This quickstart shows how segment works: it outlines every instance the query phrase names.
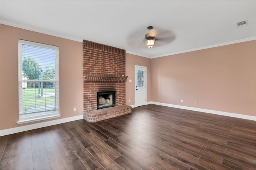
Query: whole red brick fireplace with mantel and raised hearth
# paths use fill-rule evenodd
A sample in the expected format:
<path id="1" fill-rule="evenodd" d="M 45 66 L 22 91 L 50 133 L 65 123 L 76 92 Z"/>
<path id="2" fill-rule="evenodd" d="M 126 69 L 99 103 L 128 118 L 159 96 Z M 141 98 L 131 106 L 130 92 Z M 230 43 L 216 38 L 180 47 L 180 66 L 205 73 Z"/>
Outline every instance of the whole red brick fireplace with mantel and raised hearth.
<path id="1" fill-rule="evenodd" d="M 126 106 L 125 50 L 83 41 L 84 119 L 96 122 L 131 113 Z M 97 92 L 116 91 L 116 106 L 97 109 Z"/>

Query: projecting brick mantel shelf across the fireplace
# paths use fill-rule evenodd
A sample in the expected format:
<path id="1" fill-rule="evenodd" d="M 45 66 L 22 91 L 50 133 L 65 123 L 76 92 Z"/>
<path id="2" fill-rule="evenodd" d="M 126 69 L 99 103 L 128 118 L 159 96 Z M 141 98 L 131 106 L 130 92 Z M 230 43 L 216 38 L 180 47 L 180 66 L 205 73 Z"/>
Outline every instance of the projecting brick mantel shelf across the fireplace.
<path id="1" fill-rule="evenodd" d="M 84 82 L 126 82 L 128 76 L 104 75 L 104 74 L 85 74 Z"/>

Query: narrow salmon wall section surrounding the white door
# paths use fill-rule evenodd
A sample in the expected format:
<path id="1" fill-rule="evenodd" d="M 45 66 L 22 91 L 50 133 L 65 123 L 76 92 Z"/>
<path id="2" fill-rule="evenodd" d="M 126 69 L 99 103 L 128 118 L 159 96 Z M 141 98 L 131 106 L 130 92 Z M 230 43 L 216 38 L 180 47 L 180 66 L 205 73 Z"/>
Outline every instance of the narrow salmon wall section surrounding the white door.
<path id="1" fill-rule="evenodd" d="M 147 67 L 147 102 L 151 100 L 151 59 L 126 53 L 126 105 L 135 104 L 135 65 Z M 129 79 L 132 82 L 129 82 Z M 130 102 L 129 102 L 130 99 Z"/>

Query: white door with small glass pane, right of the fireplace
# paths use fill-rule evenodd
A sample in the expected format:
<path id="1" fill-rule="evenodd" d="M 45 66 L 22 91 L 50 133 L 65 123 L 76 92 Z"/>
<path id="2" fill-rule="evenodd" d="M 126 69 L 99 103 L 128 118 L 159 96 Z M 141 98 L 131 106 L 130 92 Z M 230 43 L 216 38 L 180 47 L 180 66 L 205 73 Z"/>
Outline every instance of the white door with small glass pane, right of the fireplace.
<path id="1" fill-rule="evenodd" d="M 147 98 L 147 67 L 135 66 L 135 107 L 146 105 Z"/>

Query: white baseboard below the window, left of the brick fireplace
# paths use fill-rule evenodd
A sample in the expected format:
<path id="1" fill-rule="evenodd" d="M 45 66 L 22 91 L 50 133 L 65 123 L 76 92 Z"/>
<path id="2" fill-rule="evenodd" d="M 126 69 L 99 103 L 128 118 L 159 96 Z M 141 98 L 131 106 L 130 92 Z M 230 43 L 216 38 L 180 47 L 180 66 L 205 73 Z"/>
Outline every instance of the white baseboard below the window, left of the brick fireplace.
<path id="1" fill-rule="evenodd" d="M 0 130 L 0 136 L 10 135 L 10 134 L 13 134 L 13 133 L 19 133 L 19 132 L 24 132 L 24 131 L 29 131 L 29 130 L 38 129 L 38 128 L 41 128 L 41 127 L 58 125 L 60 123 L 66 123 L 66 122 L 69 122 L 69 121 L 80 120 L 80 119 L 83 119 L 83 118 L 84 118 L 84 115 L 78 115 L 78 116 L 67 117 L 67 118 L 63 118 L 63 119 L 45 121 L 45 122 L 41 122 L 41 123 L 35 123 L 35 124 L 32 124 L 32 125 L 25 125 L 25 126 L 10 128 L 10 129 L 4 129 L 4 130 Z"/>

